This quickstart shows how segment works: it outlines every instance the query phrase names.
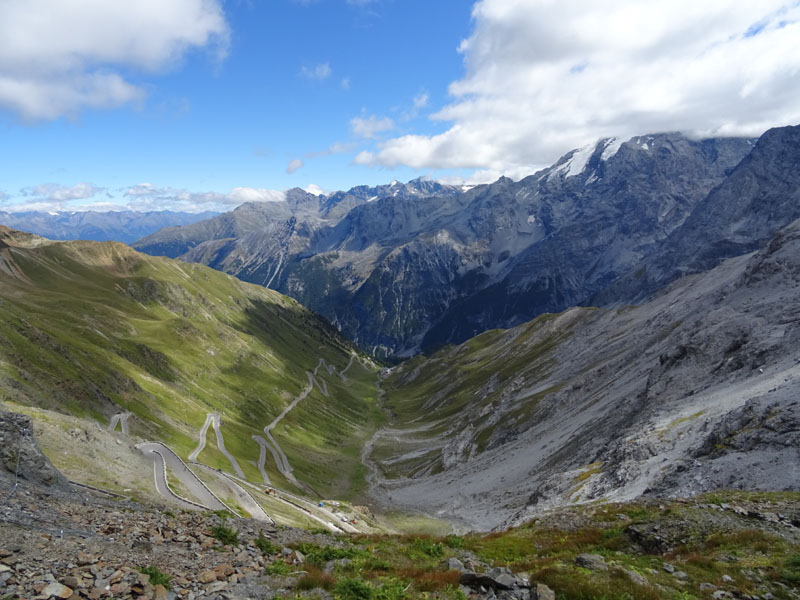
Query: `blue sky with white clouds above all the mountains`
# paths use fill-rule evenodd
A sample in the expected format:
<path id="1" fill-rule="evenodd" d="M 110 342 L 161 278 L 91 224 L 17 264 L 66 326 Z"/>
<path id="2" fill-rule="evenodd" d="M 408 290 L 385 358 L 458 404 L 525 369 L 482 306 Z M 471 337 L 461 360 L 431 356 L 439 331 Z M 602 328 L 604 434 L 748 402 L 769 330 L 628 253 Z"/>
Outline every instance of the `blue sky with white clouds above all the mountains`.
<path id="1" fill-rule="evenodd" d="M 519 179 L 800 124 L 798 0 L 1 0 L 0 210 Z"/>

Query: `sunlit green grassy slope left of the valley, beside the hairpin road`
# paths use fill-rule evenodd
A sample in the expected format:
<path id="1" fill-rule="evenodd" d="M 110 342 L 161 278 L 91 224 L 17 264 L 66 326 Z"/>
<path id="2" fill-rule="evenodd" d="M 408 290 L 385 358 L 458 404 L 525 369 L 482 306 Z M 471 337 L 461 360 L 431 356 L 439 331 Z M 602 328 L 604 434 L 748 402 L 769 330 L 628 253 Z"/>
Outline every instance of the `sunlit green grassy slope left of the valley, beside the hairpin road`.
<path id="1" fill-rule="evenodd" d="M 353 350 L 295 301 L 210 268 L 0 231 L 0 399 L 102 424 L 130 411 L 132 434 L 184 458 L 218 412 L 227 449 L 259 481 L 251 435 L 301 393 L 319 359 L 342 369 Z M 375 373 L 356 361 L 347 384 L 318 375 L 330 398 L 315 387 L 274 435 L 299 480 L 346 497 L 363 487 L 358 449 L 380 418 Z M 212 429 L 199 459 L 230 470 Z M 271 457 L 267 467 L 282 481 Z"/>

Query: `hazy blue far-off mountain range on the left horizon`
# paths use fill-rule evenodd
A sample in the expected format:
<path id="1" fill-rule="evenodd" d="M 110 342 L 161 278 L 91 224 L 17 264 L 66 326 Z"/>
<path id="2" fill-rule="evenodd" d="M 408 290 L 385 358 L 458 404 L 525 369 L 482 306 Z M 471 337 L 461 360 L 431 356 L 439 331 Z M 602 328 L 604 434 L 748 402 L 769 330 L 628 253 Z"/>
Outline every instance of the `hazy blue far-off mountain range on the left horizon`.
<path id="1" fill-rule="evenodd" d="M 34 233 L 51 240 L 93 240 L 130 244 L 163 227 L 189 225 L 219 213 L 160 211 L 3 212 L 0 225 Z"/>

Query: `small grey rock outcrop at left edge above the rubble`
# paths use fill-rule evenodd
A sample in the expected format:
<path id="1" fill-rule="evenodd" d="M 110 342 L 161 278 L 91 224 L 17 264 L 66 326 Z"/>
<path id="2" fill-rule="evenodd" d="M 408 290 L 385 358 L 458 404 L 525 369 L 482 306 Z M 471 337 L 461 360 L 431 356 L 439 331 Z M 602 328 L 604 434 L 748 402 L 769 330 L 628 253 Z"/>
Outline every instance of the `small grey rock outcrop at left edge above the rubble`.
<path id="1" fill-rule="evenodd" d="M 30 417 L 0 411 L 0 467 L 6 478 L 67 488 L 67 479 L 42 454 L 33 437 Z"/>

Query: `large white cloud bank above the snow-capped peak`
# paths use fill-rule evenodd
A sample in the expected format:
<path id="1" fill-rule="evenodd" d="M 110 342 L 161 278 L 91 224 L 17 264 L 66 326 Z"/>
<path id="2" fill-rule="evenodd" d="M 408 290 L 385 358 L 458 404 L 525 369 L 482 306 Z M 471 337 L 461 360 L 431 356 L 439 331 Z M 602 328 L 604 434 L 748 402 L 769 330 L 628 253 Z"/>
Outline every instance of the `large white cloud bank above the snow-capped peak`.
<path id="1" fill-rule="evenodd" d="M 606 136 L 758 135 L 800 122 L 800 3 L 480 0 L 465 75 L 358 164 L 532 172 Z"/>

